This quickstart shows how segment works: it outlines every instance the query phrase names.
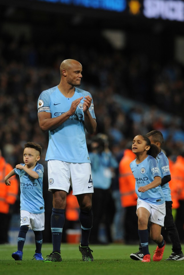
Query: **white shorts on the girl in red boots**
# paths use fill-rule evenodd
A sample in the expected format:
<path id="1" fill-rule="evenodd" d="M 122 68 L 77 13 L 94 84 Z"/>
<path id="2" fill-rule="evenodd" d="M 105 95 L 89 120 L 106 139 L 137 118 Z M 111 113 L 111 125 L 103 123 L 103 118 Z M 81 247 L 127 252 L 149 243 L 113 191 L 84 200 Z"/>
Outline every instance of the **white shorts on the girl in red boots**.
<path id="1" fill-rule="evenodd" d="M 156 204 L 147 203 L 146 201 L 138 199 L 137 209 L 139 207 L 144 207 L 149 211 L 150 213 L 149 221 L 151 221 L 152 223 L 159 224 L 163 227 L 164 217 L 165 217 L 165 203 L 156 205 Z"/>

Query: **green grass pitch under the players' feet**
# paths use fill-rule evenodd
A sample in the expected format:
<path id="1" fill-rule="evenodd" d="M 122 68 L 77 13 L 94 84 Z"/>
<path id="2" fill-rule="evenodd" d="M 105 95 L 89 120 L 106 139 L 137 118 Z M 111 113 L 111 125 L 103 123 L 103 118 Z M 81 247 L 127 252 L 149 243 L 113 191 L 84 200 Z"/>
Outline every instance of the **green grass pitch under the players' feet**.
<path id="1" fill-rule="evenodd" d="M 184 274 L 183 261 L 164 261 L 171 254 L 171 245 L 165 246 L 163 259 L 153 262 L 155 245 L 149 245 L 150 263 L 134 261 L 130 254 L 138 251 L 138 245 L 90 245 L 94 262 L 83 262 L 77 244 L 61 244 L 62 262 L 44 263 L 33 259 L 35 245 L 26 245 L 23 260 L 15 261 L 11 254 L 17 251 L 16 245 L 0 245 L 0 274 L 9 275 L 177 275 Z M 51 243 L 43 243 L 42 255 L 46 258 L 52 252 Z"/>

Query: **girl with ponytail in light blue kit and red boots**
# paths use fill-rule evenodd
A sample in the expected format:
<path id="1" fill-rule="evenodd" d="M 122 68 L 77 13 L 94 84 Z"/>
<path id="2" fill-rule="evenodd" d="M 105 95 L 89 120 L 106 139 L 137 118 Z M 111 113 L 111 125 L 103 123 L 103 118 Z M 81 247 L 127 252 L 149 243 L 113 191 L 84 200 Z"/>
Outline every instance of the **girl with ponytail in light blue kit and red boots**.
<path id="1" fill-rule="evenodd" d="M 159 149 L 151 144 L 145 135 L 137 135 L 133 140 L 132 152 L 137 157 L 130 163 L 130 168 L 136 180 L 136 194 L 138 195 L 138 234 L 143 251 L 142 262 L 150 262 L 148 220 L 151 223 L 150 237 L 157 243 L 153 261 L 160 261 L 165 248 L 165 241 L 161 235 L 165 217 L 165 198 L 160 186 L 161 173 L 156 160 Z"/>

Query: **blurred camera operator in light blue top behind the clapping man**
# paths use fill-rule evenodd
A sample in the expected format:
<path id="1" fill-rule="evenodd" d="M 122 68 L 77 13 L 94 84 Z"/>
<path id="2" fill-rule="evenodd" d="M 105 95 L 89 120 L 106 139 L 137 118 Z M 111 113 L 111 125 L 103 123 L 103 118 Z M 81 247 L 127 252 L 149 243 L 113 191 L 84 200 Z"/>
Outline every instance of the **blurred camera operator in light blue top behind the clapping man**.
<path id="1" fill-rule="evenodd" d="M 109 149 L 107 135 L 98 133 L 94 137 L 90 144 L 89 157 L 91 160 L 94 186 L 92 203 L 93 215 L 95 215 L 89 242 L 95 244 L 111 243 L 112 236 L 110 226 L 114 213 L 114 203 L 110 186 L 114 176 L 114 169 L 118 167 L 118 162 Z M 104 223 L 106 231 L 106 240 L 104 242 L 99 239 L 101 223 Z"/>

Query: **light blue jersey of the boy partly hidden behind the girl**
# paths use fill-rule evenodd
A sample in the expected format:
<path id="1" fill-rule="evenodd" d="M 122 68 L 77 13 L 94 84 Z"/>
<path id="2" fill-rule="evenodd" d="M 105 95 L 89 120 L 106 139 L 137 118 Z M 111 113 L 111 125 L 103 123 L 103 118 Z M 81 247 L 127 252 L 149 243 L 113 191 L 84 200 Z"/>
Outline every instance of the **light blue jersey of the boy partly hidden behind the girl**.
<path id="1" fill-rule="evenodd" d="M 169 170 L 169 160 L 162 151 L 159 153 L 158 156 L 159 156 L 158 165 L 159 165 L 159 169 L 160 169 L 160 173 L 161 173 L 161 178 L 163 178 L 164 176 L 168 176 L 171 174 L 171 172 Z M 172 201 L 171 189 L 169 187 L 169 183 L 168 182 L 165 183 L 164 185 L 161 186 L 161 188 L 162 188 L 165 200 Z"/>

